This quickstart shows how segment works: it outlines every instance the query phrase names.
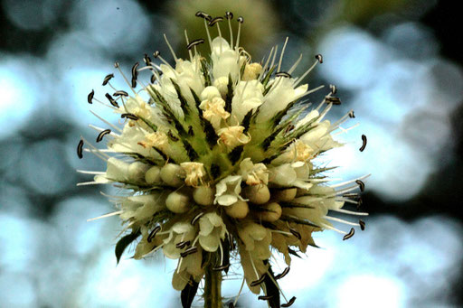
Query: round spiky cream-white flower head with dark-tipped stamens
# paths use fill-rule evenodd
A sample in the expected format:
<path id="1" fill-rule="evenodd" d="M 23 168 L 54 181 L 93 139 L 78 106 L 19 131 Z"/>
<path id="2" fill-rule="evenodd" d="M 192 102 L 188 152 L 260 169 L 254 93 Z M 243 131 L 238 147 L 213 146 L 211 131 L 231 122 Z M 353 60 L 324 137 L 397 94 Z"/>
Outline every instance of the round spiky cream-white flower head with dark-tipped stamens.
<path id="1" fill-rule="evenodd" d="M 198 15 L 210 25 L 223 19 Z M 226 17 L 230 24 L 231 15 Z M 109 107 L 127 121 L 122 130 L 109 122 L 112 131 L 92 126 L 100 132 L 97 141 L 107 141 L 108 148 L 89 145 L 84 150 L 107 161 L 107 170 L 88 183 L 118 182 L 130 191 L 115 197 L 113 214 L 131 230 L 116 247 L 118 258 L 134 240 L 136 259 L 162 250 L 165 257 L 179 259 L 173 285 L 184 290 L 203 278 L 207 266 L 227 272 L 230 256 L 239 256 L 250 291 L 260 294 L 267 284 L 276 284 L 269 262 L 275 251 L 289 265 L 291 255 L 316 246 L 313 232 L 335 229 L 329 220 L 364 228 L 362 220 L 357 224 L 328 216 L 329 210 L 364 215 L 342 209 L 345 201 L 358 203 L 349 198 L 358 194 L 349 191 L 358 184 L 363 188 L 363 182 L 329 186 L 328 168 L 314 163 L 319 154 L 340 145 L 331 134 L 354 114 L 335 124 L 324 119 L 339 101 L 333 97 L 335 87 L 310 112 L 300 101 L 322 88 L 303 84 L 322 62 L 320 55 L 303 76 L 293 78 L 298 62 L 280 70 L 285 47 L 278 62 L 278 48 L 266 61 L 252 62 L 239 47 L 239 37 L 233 44 L 232 32 L 231 42 L 221 34 L 212 40 L 209 31 L 208 37 L 210 61 L 196 52 L 203 40 L 187 42 L 189 60 L 173 51 L 174 66 L 155 52 L 160 64 L 145 56 L 146 67 L 134 66 L 132 96 L 121 90 L 106 95 Z M 148 100 L 136 91 L 141 70 L 153 75 L 139 89 Z M 111 78 L 105 79 L 109 86 Z M 89 102 L 93 99 L 92 92 Z M 208 265 L 211 260 L 216 264 Z"/>

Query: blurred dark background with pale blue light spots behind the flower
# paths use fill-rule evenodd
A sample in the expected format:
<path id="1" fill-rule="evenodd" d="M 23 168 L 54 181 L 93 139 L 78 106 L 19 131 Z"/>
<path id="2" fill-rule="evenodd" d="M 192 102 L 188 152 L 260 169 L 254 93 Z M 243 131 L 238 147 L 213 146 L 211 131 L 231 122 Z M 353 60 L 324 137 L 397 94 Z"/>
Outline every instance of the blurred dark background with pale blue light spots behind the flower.
<path id="1" fill-rule="evenodd" d="M 174 264 L 164 257 L 116 266 L 118 218 L 76 169 L 104 170 L 75 154 L 88 124 L 87 94 L 143 54 L 175 51 L 204 37 L 194 13 L 244 17 L 241 46 L 259 61 L 288 36 L 283 69 L 314 55 L 324 63 L 309 86 L 335 84 L 360 126 L 326 156 L 333 176 L 365 181 L 364 232 L 343 241 L 316 235 L 321 249 L 294 259 L 281 280 L 295 307 L 463 306 L 463 50 L 458 2 L 439 0 L 149 1 L 1 0 L 0 307 L 179 307 Z M 226 31 L 222 31 L 226 33 Z M 123 88 L 117 75 L 116 86 Z M 321 94 L 311 97 L 317 102 Z M 98 107 L 91 106 L 99 112 Z M 101 113 L 100 113 L 101 114 Z M 112 122 L 116 117 L 102 113 Z M 351 124 L 355 124 L 352 122 Z M 345 126 L 347 128 L 347 126 Z M 368 136 L 363 153 L 360 135 Z M 278 269 L 276 269 L 279 272 Z M 223 295 L 237 294 L 229 280 Z M 200 303 L 198 303 L 200 304 Z M 241 307 L 267 305 L 245 290 Z"/>

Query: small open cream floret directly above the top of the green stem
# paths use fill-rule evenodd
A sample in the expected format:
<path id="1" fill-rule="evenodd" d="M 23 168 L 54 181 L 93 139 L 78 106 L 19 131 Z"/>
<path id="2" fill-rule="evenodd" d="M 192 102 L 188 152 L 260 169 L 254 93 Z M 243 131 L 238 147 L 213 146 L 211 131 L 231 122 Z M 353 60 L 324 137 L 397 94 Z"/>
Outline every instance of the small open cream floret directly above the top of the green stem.
<path id="1" fill-rule="evenodd" d="M 222 218 L 214 212 L 204 214 L 199 219 L 199 243 L 205 251 L 213 252 L 219 248 L 221 239 L 225 238 L 227 228 Z"/>

